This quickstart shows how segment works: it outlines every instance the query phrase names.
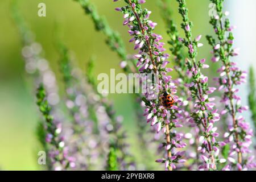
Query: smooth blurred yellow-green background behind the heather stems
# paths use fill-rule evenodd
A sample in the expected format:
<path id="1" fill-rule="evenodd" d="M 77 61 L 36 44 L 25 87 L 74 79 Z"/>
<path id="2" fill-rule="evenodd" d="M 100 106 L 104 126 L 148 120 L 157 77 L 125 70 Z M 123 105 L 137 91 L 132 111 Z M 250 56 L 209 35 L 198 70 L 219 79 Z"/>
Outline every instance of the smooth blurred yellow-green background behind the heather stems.
<path id="1" fill-rule="evenodd" d="M 46 3 L 47 16 L 38 16 L 38 4 Z M 128 42 L 127 27 L 122 26 L 122 15 L 114 8 L 122 3 L 113 3 L 112 0 L 92 0 L 100 14 L 109 21 L 110 26 L 120 32 L 129 53 L 133 53 L 133 46 Z M 172 1 L 174 18 L 180 24 L 177 14 L 177 3 Z M 168 40 L 164 22 L 157 6 L 158 1 L 147 0 L 144 5 L 152 11 L 151 19 L 158 22 L 155 32 L 162 34 L 165 42 Z M 193 34 L 212 34 L 209 28 L 208 5 L 209 1 L 188 0 L 189 16 L 193 21 Z M 40 169 L 36 162 L 38 142 L 35 137 L 36 123 L 40 115 L 35 105 L 35 88 L 30 76 L 24 71 L 24 61 L 21 56 L 21 39 L 18 28 L 15 26 L 10 12 L 10 0 L 0 1 L 0 168 L 5 170 L 36 170 Z M 109 73 L 110 68 L 119 69 L 118 56 L 110 51 L 105 44 L 105 37 L 94 31 L 89 16 L 84 14 L 80 5 L 72 0 L 22 0 L 18 1 L 20 12 L 28 26 L 35 33 L 36 41 L 41 43 L 44 55 L 50 61 L 53 71 L 56 72 L 59 83 L 61 77 L 57 67 L 59 56 L 53 44 L 54 27 L 56 22 L 61 27 L 62 38 L 65 44 L 76 56 L 76 66 L 85 70 L 89 57 L 97 58 L 96 73 Z M 209 46 L 200 48 L 199 58 L 209 60 Z M 166 47 L 167 48 L 167 47 Z M 60 94 L 63 86 L 60 84 Z M 124 125 L 129 135 L 133 151 L 136 150 L 134 139 L 134 114 L 129 94 L 110 94 L 118 114 L 125 118 Z M 123 103 L 126 103 L 125 105 Z"/>

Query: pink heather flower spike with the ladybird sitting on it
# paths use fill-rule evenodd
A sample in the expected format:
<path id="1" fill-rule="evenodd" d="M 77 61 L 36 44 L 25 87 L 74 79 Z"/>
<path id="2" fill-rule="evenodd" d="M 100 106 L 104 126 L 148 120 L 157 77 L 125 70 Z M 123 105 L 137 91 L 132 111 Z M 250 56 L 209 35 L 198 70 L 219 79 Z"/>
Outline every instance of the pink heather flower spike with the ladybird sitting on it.
<path id="1" fill-rule="evenodd" d="M 169 55 L 164 53 L 166 49 L 163 48 L 163 43 L 160 42 L 163 39 L 162 36 L 153 32 L 156 23 L 149 20 L 151 11 L 141 8 L 141 3 L 144 3 L 144 1 L 129 0 L 125 2 L 127 6 L 121 8 L 122 13 L 125 15 L 123 24 L 129 27 L 129 34 L 133 36 L 134 49 L 139 49 L 138 54 L 134 57 L 140 63 L 140 73 L 154 73 L 159 77 L 159 81 L 154 83 L 155 85 L 151 90 L 159 89 L 160 94 L 163 92 L 175 94 L 176 86 L 172 82 L 171 76 L 167 75 L 166 65 Z M 135 17 L 135 19 L 131 17 Z M 144 115 L 146 115 L 147 121 L 151 122 L 152 126 L 156 126 L 157 133 L 162 130 L 166 135 L 166 142 L 164 142 L 163 147 L 165 147 L 167 156 L 161 162 L 165 163 L 167 170 L 172 170 L 182 157 L 182 153 L 177 152 L 175 148 L 184 148 L 186 146 L 181 141 L 183 134 L 176 133 L 174 130 L 176 127 L 182 127 L 177 121 L 180 119 L 180 109 L 176 105 L 179 105 L 180 101 L 175 96 L 176 105 L 171 109 L 166 109 L 160 103 L 158 97 L 152 100 L 154 96 L 155 93 L 151 93 L 150 90 L 147 90 L 143 95 L 142 100 L 146 105 Z"/>

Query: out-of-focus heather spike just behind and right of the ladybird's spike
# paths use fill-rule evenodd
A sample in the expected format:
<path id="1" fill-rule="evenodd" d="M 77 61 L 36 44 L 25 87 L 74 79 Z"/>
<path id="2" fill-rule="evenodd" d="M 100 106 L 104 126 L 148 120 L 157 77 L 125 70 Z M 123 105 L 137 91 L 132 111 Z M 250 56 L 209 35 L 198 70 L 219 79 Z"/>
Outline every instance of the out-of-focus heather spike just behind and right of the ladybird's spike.
<path id="1" fill-rule="evenodd" d="M 193 102 L 195 99 L 191 96 L 191 91 L 188 85 L 192 82 L 192 76 L 189 74 L 185 63 L 185 51 L 184 45 L 181 42 L 177 26 L 172 18 L 172 10 L 170 9 L 170 2 L 168 0 L 159 1 L 160 9 L 162 10 L 162 16 L 167 26 L 167 34 L 170 40 L 170 51 L 172 53 L 172 60 L 174 61 L 174 70 L 178 75 L 175 84 L 179 88 L 180 98 L 183 100 L 184 110 L 184 125 L 191 127 L 191 130 L 185 134 L 185 139 L 188 139 L 189 146 L 187 148 L 186 158 L 189 159 L 190 163 L 186 166 L 188 169 L 197 168 L 199 166 L 199 155 L 197 154 L 197 148 L 199 147 L 199 137 L 201 133 L 200 127 L 197 127 L 194 123 L 187 122 L 191 119 L 191 111 L 193 110 Z M 201 35 L 200 35 L 201 36 Z M 200 38 L 198 37 L 198 39 Z"/>

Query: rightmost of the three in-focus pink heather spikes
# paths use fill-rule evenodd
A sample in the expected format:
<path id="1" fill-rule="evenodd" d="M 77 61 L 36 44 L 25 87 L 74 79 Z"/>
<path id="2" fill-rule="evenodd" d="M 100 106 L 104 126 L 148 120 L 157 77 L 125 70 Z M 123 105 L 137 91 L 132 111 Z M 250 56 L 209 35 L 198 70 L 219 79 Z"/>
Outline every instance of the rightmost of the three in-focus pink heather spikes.
<path id="1" fill-rule="evenodd" d="M 218 18 L 210 18 L 210 24 L 214 28 L 217 39 L 207 36 L 210 46 L 213 47 L 213 57 L 221 60 L 221 67 L 218 69 L 218 90 L 223 90 L 224 94 L 221 102 L 225 105 L 223 114 L 229 114 L 228 132 L 225 143 L 232 146 L 229 151 L 229 163 L 224 169 L 243 170 L 251 168 L 253 164 L 246 160 L 250 154 L 250 144 L 252 143 L 253 130 L 242 117 L 241 113 L 247 110 L 247 106 L 241 105 L 241 97 L 238 96 L 237 85 L 241 85 L 246 80 L 246 72 L 241 71 L 231 59 L 237 56 L 237 49 L 233 48 L 233 34 L 229 19 L 223 12 L 224 0 L 211 0 L 216 5 Z M 214 59 L 213 59 L 214 60 Z M 234 155 L 236 154 L 236 156 Z M 235 159 L 237 158 L 237 159 Z"/>

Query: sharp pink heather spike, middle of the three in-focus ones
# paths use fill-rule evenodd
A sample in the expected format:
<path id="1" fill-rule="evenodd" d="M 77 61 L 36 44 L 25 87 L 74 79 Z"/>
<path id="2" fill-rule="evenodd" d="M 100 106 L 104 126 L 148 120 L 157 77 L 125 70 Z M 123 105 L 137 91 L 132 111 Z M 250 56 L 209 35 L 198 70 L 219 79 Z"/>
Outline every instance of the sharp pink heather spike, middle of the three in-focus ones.
<path id="1" fill-rule="evenodd" d="M 188 48 L 189 59 L 186 60 L 189 74 L 192 75 L 192 82 L 188 85 L 191 90 L 192 97 L 195 98 L 194 110 L 192 118 L 189 122 L 196 123 L 203 132 L 199 141 L 201 146 L 201 160 L 204 162 L 200 169 L 217 169 L 217 155 L 219 152 L 216 137 L 218 133 L 209 129 L 214 123 L 220 120 L 220 115 L 214 109 L 214 103 L 211 102 L 209 94 L 212 94 L 216 88 L 208 87 L 208 78 L 201 73 L 203 64 L 197 61 L 197 44 L 199 38 L 192 39 L 192 22 L 188 19 L 188 9 L 184 0 L 177 0 L 179 3 L 179 13 L 183 18 L 181 28 L 184 29 L 186 38 L 182 40 L 185 47 Z"/>

